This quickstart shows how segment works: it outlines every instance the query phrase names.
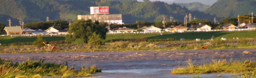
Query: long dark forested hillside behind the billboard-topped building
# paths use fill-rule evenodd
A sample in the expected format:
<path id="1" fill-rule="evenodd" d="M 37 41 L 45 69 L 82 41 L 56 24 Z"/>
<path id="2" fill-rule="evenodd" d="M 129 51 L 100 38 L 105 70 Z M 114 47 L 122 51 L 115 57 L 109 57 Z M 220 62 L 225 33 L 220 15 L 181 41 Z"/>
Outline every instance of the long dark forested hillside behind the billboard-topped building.
<path id="1" fill-rule="evenodd" d="M 123 14 L 124 23 L 138 21 L 166 21 L 170 15 L 175 21 L 183 22 L 187 13 L 199 19 L 212 20 L 215 16 L 186 7 L 164 2 L 137 2 L 137 0 L 0 0 L 0 22 L 8 23 L 8 17 L 25 22 L 50 20 L 77 20 L 77 15 L 88 15 L 91 6 L 110 6 L 110 14 Z M 6 19 L 7 18 L 7 19 Z M 13 24 L 16 24 L 13 22 Z M 18 23 L 17 23 L 18 24 Z"/>

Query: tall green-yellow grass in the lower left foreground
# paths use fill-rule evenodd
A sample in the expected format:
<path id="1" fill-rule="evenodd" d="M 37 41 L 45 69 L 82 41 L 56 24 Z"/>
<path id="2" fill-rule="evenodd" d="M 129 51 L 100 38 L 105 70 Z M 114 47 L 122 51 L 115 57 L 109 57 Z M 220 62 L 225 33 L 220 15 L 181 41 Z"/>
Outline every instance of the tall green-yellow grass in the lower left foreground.
<path id="1" fill-rule="evenodd" d="M 89 77 L 101 69 L 96 65 L 82 67 L 75 70 L 74 66 L 68 67 L 66 64 L 44 63 L 44 60 L 31 61 L 23 63 L 12 63 L 0 59 L 0 77 L 1 78 L 43 78 L 46 77 Z"/>

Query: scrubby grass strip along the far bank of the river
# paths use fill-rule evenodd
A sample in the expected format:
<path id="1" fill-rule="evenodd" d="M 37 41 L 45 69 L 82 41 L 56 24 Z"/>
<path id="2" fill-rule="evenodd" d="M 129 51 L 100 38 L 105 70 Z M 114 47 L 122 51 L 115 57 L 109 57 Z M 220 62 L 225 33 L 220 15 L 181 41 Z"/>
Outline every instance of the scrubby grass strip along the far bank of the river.
<path id="1" fill-rule="evenodd" d="M 38 48 L 31 43 L 10 44 L 0 46 L 0 53 L 30 53 L 30 52 L 84 52 L 84 51 L 134 51 L 134 50 L 196 50 L 206 46 L 207 49 L 253 49 L 256 48 L 254 38 L 239 40 L 186 40 L 173 41 L 171 39 L 155 39 L 147 41 L 117 41 L 108 42 L 100 47 L 89 47 L 87 44 L 52 42 L 57 50 L 48 51 L 44 47 Z"/>

